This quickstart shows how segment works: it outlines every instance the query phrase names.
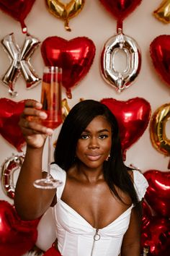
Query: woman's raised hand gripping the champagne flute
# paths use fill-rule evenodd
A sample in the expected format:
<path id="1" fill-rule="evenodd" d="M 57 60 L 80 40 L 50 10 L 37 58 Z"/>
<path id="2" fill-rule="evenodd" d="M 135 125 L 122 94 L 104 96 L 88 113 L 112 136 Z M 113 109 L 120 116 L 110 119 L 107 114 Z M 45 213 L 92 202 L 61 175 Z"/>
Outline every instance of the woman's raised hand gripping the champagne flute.
<path id="1" fill-rule="evenodd" d="M 38 101 L 27 100 L 19 120 L 24 139 L 32 148 L 42 148 L 46 137 L 53 134 L 53 129 L 40 124 L 41 119 L 47 118 L 47 114 L 41 111 L 41 108 L 42 104 Z"/>

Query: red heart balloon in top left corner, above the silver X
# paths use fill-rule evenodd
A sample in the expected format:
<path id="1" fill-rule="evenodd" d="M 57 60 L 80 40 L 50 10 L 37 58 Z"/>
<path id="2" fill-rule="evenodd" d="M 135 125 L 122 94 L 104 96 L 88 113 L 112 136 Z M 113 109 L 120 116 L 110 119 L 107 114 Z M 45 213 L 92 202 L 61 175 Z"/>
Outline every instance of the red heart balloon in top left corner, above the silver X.
<path id="1" fill-rule="evenodd" d="M 35 0 L 0 0 L 0 9 L 19 21 L 22 26 L 22 32 L 27 33 L 24 19 L 32 9 L 34 2 Z"/>

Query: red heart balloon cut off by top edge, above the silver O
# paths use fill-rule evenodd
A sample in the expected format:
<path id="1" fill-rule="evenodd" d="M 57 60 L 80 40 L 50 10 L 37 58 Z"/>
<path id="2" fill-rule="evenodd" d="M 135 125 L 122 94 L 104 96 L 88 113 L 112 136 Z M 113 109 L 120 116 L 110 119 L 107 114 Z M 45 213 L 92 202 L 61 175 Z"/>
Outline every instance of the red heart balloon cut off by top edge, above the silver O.
<path id="1" fill-rule="evenodd" d="M 99 0 L 117 20 L 124 20 L 142 0 Z"/>

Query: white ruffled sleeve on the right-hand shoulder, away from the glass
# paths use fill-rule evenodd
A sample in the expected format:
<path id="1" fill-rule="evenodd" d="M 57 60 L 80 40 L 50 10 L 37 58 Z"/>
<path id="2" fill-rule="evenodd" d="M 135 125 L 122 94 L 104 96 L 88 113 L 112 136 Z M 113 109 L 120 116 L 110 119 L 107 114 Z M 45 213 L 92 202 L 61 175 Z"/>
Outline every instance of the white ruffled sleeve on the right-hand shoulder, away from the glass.
<path id="1" fill-rule="evenodd" d="M 140 171 L 133 170 L 133 182 L 135 191 L 138 195 L 138 200 L 141 201 L 144 195 L 146 194 L 148 181 L 145 178 L 145 176 L 143 176 L 143 174 L 140 173 Z"/>

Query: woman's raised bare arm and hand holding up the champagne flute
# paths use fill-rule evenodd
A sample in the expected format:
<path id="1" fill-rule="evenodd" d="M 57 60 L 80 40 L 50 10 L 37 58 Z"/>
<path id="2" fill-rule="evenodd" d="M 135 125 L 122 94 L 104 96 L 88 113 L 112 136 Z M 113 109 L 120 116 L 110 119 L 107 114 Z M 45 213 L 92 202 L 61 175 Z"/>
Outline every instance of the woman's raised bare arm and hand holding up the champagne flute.
<path id="1" fill-rule="evenodd" d="M 24 163 L 19 171 L 15 188 L 14 206 L 24 220 L 39 218 L 50 207 L 56 189 L 37 189 L 33 186 L 35 179 L 41 179 L 42 152 L 46 137 L 53 133 L 52 129 L 43 127 L 34 119 L 45 119 L 42 105 L 34 100 L 25 103 L 19 126 L 22 129 L 27 149 Z"/>

